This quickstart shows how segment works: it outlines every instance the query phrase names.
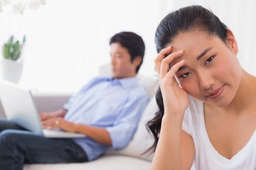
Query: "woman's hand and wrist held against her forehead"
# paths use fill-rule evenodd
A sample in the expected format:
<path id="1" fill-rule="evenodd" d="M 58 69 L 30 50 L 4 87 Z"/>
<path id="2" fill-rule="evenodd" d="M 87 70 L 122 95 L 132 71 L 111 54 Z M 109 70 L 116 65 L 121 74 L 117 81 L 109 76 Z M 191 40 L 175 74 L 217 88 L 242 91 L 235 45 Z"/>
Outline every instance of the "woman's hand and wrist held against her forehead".
<path id="1" fill-rule="evenodd" d="M 169 70 L 170 63 L 183 55 L 183 50 L 172 52 L 172 47 L 166 47 L 154 60 L 156 72 L 159 73 L 159 86 L 164 100 L 164 109 L 170 113 L 184 113 L 188 108 L 188 93 L 178 86 L 174 75 L 180 67 L 185 64 L 181 60 L 174 64 Z"/>

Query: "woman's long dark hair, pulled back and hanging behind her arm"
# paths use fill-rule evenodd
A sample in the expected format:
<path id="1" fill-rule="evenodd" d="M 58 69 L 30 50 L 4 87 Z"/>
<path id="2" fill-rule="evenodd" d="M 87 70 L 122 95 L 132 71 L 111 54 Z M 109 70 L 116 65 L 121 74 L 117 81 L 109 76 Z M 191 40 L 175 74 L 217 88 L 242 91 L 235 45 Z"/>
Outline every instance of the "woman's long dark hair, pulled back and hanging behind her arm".
<path id="1" fill-rule="evenodd" d="M 159 53 L 163 48 L 176 38 L 179 33 L 186 33 L 193 30 L 201 30 L 209 36 L 218 36 L 223 42 L 228 38 L 228 28 L 217 16 L 202 6 L 187 6 L 169 13 L 159 23 L 155 33 L 156 51 Z M 149 148 L 155 152 L 161 130 L 161 120 L 164 116 L 164 102 L 161 89 L 156 92 L 156 103 L 159 111 L 152 120 L 146 123 L 146 128 L 154 136 L 154 144 Z M 148 151 L 149 151 L 148 150 Z"/>

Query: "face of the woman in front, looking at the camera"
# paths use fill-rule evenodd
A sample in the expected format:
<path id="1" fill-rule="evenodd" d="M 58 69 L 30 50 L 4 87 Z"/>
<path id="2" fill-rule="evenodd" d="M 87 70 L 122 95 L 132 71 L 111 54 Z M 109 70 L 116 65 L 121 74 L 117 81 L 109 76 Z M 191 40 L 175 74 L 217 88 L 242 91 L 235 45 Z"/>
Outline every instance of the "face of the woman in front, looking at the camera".
<path id="1" fill-rule="evenodd" d="M 184 50 L 171 65 L 185 60 L 176 72 L 178 84 L 194 98 L 213 106 L 224 107 L 233 101 L 240 84 L 242 68 L 236 57 L 237 43 L 228 31 L 228 40 L 200 30 L 180 33 L 169 45 L 172 52 Z"/>

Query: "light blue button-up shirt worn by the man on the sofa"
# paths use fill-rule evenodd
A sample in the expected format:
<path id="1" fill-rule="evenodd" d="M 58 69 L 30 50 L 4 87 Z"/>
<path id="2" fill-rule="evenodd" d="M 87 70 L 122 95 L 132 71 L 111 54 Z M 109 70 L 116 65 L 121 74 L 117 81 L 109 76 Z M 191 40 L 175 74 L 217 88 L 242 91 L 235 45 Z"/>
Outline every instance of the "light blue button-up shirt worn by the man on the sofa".
<path id="1" fill-rule="evenodd" d="M 97 77 L 72 96 L 63 108 L 68 110 L 65 120 L 105 128 L 110 134 L 112 148 L 122 149 L 132 140 L 148 102 L 149 96 L 136 77 Z M 90 137 L 73 140 L 85 150 L 90 161 L 107 149 Z"/>

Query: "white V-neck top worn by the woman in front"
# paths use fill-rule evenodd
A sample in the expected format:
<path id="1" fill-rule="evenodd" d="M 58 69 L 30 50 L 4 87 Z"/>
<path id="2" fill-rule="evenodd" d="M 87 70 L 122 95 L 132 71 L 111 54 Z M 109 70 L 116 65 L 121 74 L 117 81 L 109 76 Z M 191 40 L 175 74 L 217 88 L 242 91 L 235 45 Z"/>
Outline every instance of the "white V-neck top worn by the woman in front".
<path id="1" fill-rule="evenodd" d="M 190 97 L 182 129 L 193 138 L 196 157 L 191 169 L 196 170 L 255 170 L 256 132 L 240 152 L 231 159 L 220 155 L 210 143 L 203 115 L 203 102 Z"/>

